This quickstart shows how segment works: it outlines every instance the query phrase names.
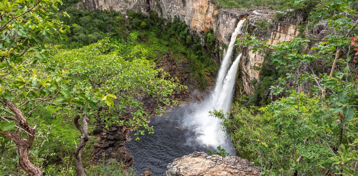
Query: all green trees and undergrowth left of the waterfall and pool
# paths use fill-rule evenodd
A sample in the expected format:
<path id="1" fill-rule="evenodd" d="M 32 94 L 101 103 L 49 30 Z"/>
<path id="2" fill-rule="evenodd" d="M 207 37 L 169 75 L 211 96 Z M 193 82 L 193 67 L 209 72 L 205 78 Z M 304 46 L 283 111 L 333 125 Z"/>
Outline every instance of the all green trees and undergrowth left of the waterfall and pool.
<path id="1" fill-rule="evenodd" d="M 123 15 L 113 11 L 81 11 L 77 20 L 85 28 L 72 25 L 73 35 L 67 40 L 64 33 L 71 32 L 69 26 L 47 10 L 58 10 L 59 3 L 61 1 L 1 1 L 1 18 L 5 21 L 0 24 L 0 34 L 5 36 L 0 40 L 0 107 L 3 109 L 0 154 L 4 166 L 1 174 L 73 175 L 77 172 L 86 175 L 81 156 L 83 150 L 90 150 L 86 147 L 88 130 L 92 128 L 88 125 L 89 119 L 100 119 L 106 128 L 125 124 L 132 126 L 136 134 L 143 135 L 145 130 L 151 134 L 150 114 L 137 97 L 153 99 L 153 110 L 160 114 L 164 113 L 165 105 L 176 104 L 170 98 L 171 93 L 185 89 L 168 73 L 155 69 L 153 59 L 146 59 L 153 55 L 147 54 L 145 45 L 139 44 L 158 40 L 158 36 L 143 36 L 142 29 L 154 26 L 151 33 L 157 28 L 164 29 L 154 11 L 149 17 L 129 12 L 130 25 L 119 23 L 112 27 L 117 27 L 117 32 L 130 32 L 112 37 L 111 41 L 104 37 L 120 34 L 112 34 L 108 29 L 110 25 L 100 21 L 98 26 L 91 26 L 87 13 L 98 15 L 97 19 L 102 21 L 115 18 L 116 24 L 123 20 Z M 59 14 L 68 16 L 66 12 Z M 180 32 L 179 36 L 187 38 L 188 29 L 182 23 L 175 22 L 172 26 L 173 33 L 167 35 Z M 179 41 L 171 42 L 180 44 Z M 59 45 L 50 46 L 46 42 Z M 92 44 L 84 46 L 89 43 Z M 184 45 L 179 46 L 185 50 Z M 194 59 L 189 62 L 204 69 L 196 57 L 188 57 Z M 127 175 L 115 165 L 102 166 L 106 166 L 102 171 L 96 169 L 99 166 L 93 167 L 97 170 L 95 175 L 105 172 Z"/>

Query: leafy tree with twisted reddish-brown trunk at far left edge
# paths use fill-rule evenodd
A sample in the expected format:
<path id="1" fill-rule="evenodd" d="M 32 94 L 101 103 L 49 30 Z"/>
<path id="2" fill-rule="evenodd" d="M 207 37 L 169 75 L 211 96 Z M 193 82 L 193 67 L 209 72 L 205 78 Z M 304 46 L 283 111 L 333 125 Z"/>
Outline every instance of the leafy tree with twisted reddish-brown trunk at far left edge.
<path id="1" fill-rule="evenodd" d="M 42 170 L 29 160 L 37 126 L 30 126 L 26 120 L 42 103 L 52 104 L 60 81 L 53 79 L 54 70 L 37 72 L 36 68 L 48 58 L 44 39 L 54 34 L 67 39 L 64 33 L 69 32 L 68 26 L 47 11 L 57 10 L 58 4 L 61 0 L 0 2 L 0 134 L 16 143 L 19 165 L 30 175 L 42 175 Z"/>

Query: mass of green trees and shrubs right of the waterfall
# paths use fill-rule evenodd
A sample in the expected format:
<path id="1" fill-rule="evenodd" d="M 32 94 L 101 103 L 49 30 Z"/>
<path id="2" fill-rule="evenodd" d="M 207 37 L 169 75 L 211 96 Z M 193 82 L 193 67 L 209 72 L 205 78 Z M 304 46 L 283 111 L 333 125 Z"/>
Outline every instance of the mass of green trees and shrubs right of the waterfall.
<path id="1" fill-rule="evenodd" d="M 358 175 L 358 21 L 342 15 L 355 14 L 353 1 L 317 4 L 298 29 L 326 21 L 330 33 L 320 43 L 299 35 L 267 45 L 247 34 L 237 42 L 266 53 L 261 68 L 253 68 L 261 71 L 251 81 L 254 95 L 241 99 L 246 104 L 233 103 L 230 113 L 211 112 L 230 132 L 238 154 L 264 175 Z"/>

